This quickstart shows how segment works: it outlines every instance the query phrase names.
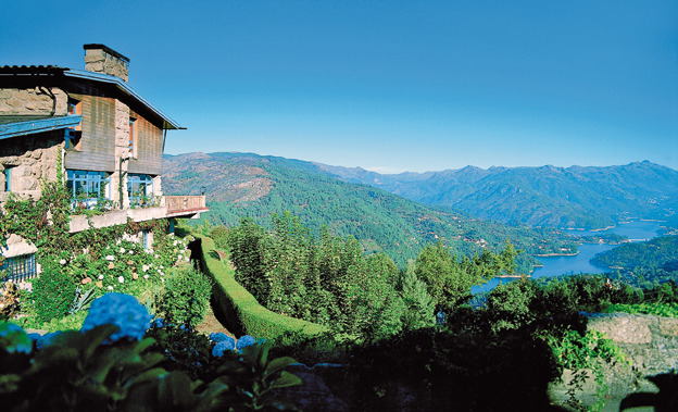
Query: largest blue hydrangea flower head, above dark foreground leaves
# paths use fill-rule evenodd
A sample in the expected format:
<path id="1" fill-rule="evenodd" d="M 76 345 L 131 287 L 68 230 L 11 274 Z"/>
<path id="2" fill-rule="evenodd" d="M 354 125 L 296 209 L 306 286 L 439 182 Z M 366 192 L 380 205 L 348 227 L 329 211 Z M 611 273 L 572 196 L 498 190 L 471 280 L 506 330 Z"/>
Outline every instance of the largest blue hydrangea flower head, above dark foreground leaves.
<path id="1" fill-rule="evenodd" d="M 146 308 L 133 296 L 106 294 L 96 299 L 80 330 L 87 332 L 95 326 L 112 324 L 120 327 L 104 344 L 112 344 L 123 338 L 141 340 L 146 329 L 151 326 L 151 316 Z"/>

